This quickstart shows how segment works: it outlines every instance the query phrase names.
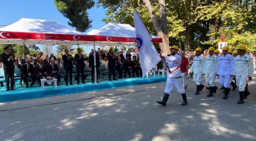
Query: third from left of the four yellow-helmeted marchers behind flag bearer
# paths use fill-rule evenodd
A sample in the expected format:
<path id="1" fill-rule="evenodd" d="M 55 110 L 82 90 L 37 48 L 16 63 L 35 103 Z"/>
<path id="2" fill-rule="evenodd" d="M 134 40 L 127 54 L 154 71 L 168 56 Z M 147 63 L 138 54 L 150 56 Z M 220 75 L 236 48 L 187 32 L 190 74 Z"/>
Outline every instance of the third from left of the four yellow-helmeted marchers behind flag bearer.
<path id="1" fill-rule="evenodd" d="M 234 57 L 228 54 L 229 47 L 225 46 L 222 48 L 222 53 L 219 57 L 219 67 L 218 67 L 218 75 L 219 75 L 219 84 L 224 86 L 224 96 L 223 99 L 228 98 L 229 88 L 230 86 L 230 76 L 233 76 L 234 72 Z"/>

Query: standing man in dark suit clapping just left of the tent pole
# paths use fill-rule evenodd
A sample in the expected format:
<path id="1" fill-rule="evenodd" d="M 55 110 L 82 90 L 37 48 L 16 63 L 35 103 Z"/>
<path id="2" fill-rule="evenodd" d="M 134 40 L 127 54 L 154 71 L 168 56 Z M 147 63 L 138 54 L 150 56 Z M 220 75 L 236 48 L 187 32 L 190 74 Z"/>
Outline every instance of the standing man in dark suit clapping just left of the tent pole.
<path id="1" fill-rule="evenodd" d="M 76 71 L 77 71 L 77 85 L 80 83 L 80 74 L 82 76 L 82 83 L 85 84 L 84 81 L 84 67 L 85 67 L 85 58 L 83 54 L 81 54 L 81 49 L 77 49 L 78 54 L 75 54 L 75 61 L 76 61 Z"/>

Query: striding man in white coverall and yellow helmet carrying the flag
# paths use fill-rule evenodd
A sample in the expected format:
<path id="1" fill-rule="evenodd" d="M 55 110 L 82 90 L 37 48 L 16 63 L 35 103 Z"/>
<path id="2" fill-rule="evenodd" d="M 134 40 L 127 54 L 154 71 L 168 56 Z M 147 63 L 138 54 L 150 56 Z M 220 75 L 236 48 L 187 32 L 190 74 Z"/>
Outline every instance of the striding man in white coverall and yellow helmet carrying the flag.
<path id="1" fill-rule="evenodd" d="M 167 76 L 166 86 L 163 94 L 162 101 L 156 101 L 156 103 L 166 106 L 166 102 L 169 98 L 170 91 L 175 87 L 178 93 L 182 95 L 183 102 L 181 105 L 187 105 L 187 96 L 182 86 L 182 73 L 180 71 L 181 56 L 178 53 L 178 46 L 173 45 L 171 47 L 171 56 L 165 56 L 165 66 L 167 66 L 171 72 Z"/>

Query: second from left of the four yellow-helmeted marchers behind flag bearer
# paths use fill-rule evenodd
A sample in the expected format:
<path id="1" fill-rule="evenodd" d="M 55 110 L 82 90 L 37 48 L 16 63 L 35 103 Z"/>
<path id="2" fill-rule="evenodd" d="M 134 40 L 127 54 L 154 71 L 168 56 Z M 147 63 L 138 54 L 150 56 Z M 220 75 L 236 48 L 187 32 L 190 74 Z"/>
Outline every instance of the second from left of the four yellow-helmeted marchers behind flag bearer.
<path id="1" fill-rule="evenodd" d="M 213 96 L 213 94 L 216 93 L 216 90 L 218 87 L 215 86 L 215 79 L 216 79 L 216 74 L 218 72 L 218 56 L 214 55 L 215 48 L 214 47 L 209 47 L 208 49 L 209 55 L 206 57 L 205 60 L 205 65 L 206 65 L 206 78 L 205 81 L 209 85 L 209 94 L 207 97 Z"/>

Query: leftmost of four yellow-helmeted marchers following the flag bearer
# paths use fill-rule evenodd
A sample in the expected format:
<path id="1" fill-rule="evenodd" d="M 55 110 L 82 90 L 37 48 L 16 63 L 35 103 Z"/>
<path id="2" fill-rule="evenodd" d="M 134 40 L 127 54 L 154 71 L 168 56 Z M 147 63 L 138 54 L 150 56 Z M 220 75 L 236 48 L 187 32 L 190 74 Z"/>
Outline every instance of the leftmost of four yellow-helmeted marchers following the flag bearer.
<path id="1" fill-rule="evenodd" d="M 196 56 L 194 57 L 193 64 L 191 66 L 190 72 L 194 73 L 193 81 L 197 84 L 197 91 L 195 94 L 199 94 L 199 91 L 202 91 L 204 85 L 202 85 L 202 78 L 205 75 L 205 59 L 201 56 L 202 49 L 200 47 L 196 48 Z"/>

